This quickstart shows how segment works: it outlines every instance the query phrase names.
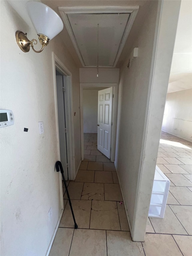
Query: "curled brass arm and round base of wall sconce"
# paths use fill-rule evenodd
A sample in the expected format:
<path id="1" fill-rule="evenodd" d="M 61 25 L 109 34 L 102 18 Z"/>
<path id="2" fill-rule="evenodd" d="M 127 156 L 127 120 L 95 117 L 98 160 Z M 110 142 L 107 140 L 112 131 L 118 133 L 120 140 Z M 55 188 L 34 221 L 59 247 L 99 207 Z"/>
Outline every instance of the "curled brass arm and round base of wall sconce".
<path id="1" fill-rule="evenodd" d="M 16 31 L 16 42 L 19 46 L 19 48 L 27 53 L 29 52 L 30 50 L 30 46 L 32 47 L 32 50 L 35 52 L 35 53 L 41 53 L 44 49 L 44 46 L 46 46 L 47 44 L 49 44 L 49 38 L 46 36 L 46 35 L 43 35 L 43 34 L 39 34 L 39 41 L 40 41 L 40 44 L 42 45 L 42 48 L 41 50 L 39 51 L 36 51 L 34 49 L 34 46 L 33 46 L 33 43 L 34 44 L 37 44 L 37 40 L 36 39 L 32 39 L 31 41 L 27 38 L 27 33 L 24 34 L 22 31 Z"/>

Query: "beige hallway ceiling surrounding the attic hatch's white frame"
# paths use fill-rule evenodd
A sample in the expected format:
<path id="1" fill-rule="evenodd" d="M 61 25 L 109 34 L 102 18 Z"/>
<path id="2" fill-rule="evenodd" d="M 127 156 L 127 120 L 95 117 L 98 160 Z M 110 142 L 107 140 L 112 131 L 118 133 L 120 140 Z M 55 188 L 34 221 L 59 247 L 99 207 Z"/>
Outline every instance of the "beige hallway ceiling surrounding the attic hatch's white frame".
<path id="1" fill-rule="evenodd" d="M 87 7 L 87 6 L 89 6 L 89 7 L 105 7 L 105 6 L 106 7 L 108 7 L 108 6 L 110 6 L 110 7 L 114 7 L 114 6 L 133 7 L 133 6 L 140 6 L 140 9 L 137 13 L 136 19 L 135 19 L 134 24 L 133 24 L 134 34 L 137 35 L 137 32 L 140 29 L 140 24 L 146 17 L 147 8 L 148 8 L 148 5 L 150 4 L 151 1 L 146 1 L 146 0 L 131 0 L 131 1 L 130 0 L 92 0 L 92 1 L 90 1 L 90 0 L 68 0 L 68 1 L 64 1 L 64 0 L 42 0 L 41 2 L 43 2 L 44 4 L 46 4 L 50 8 L 52 8 L 60 17 L 61 17 L 61 14 L 58 10 L 59 7 L 77 7 L 77 6 L 78 7 Z M 87 26 L 88 26 L 88 24 L 87 24 Z M 114 30 L 116 30 L 115 33 L 118 33 L 119 27 L 114 28 Z M 79 66 L 79 68 L 82 68 L 83 66 L 82 66 L 82 64 L 79 60 L 79 57 L 76 53 L 75 47 L 73 46 L 72 40 L 70 38 L 70 35 L 69 35 L 65 25 L 64 25 L 63 31 L 60 33 L 60 36 L 61 36 L 65 46 L 69 50 L 71 56 L 73 57 L 74 61 L 76 62 L 76 64 Z M 133 36 L 134 35 L 131 31 L 130 34 L 129 34 L 129 37 L 133 37 Z M 92 58 L 95 61 L 95 52 L 96 52 L 96 50 L 95 50 L 95 39 L 93 41 L 94 41 L 94 46 L 91 49 L 93 51 L 93 56 L 88 56 L 87 57 L 86 56 L 87 53 L 86 53 L 85 49 L 84 49 L 84 52 L 85 52 L 84 55 L 86 56 L 87 60 Z M 122 62 L 124 61 L 124 59 L 127 56 L 128 50 L 130 50 L 129 48 L 132 47 L 131 45 L 127 44 L 127 42 L 128 42 L 128 40 L 126 41 L 125 47 L 123 48 L 122 53 L 119 57 L 119 60 L 116 64 L 117 68 L 120 67 L 120 65 L 122 64 Z M 88 42 L 86 42 L 86 44 L 88 45 L 89 48 L 91 47 L 91 45 L 88 44 Z M 112 47 L 112 46 L 110 46 L 110 47 Z M 106 49 L 106 54 L 107 54 L 107 51 L 109 51 L 108 48 Z M 90 52 L 90 50 L 89 50 L 89 52 Z M 113 53 L 113 55 L 114 55 L 114 53 Z M 106 65 L 106 64 L 109 65 L 109 63 L 112 63 L 114 57 L 112 57 L 112 55 L 108 54 L 107 59 L 108 59 L 108 62 L 104 63 L 104 65 Z M 88 65 L 90 65 L 90 64 L 88 63 Z M 95 63 L 94 63 L 94 65 L 95 65 Z M 102 65 L 102 63 L 100 65 Z"/>

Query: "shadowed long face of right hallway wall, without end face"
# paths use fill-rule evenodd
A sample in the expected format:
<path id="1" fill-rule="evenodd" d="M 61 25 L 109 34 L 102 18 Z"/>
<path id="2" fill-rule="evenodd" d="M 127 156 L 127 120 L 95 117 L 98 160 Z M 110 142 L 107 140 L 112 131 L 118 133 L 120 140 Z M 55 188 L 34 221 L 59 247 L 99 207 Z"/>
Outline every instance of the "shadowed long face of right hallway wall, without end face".
<path id="1" fill-rule="evenodd" d="M 130 42 L 133 48 L 139 48 L 138 57 L 131 64 L 130 69 L 128 69 L 128 55 L 128 58 L 120 68 L 119 74 L 115 163 L 131 226 L 134 221 L 134 208 L 149 89 L 157 6 L 157 1 L 151 2 L 148 15 L 140 27 L 137 39 Z"/>

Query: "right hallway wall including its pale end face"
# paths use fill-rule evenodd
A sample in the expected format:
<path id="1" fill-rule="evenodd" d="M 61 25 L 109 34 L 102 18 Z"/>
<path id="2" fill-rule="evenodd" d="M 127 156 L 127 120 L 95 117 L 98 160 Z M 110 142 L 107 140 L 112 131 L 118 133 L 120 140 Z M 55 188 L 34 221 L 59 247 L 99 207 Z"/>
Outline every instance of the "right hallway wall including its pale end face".
<path id="1" fill-rule="evenodd" d="M 120 68 L 115 164 L 134 241 L 145 239 L 180 3 L 147 1 L 140 8 L 148 15 L 137 36 L 130 32 L 138 57 L 128 70 L 128 54 Z"/>

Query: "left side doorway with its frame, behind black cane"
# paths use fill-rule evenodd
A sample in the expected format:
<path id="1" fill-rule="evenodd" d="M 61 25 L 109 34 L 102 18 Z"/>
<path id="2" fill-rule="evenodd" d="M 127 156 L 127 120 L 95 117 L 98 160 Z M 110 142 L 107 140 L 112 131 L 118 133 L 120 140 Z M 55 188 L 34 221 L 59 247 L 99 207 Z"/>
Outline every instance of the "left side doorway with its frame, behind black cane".
<path id="1" fill-rule="evenodd" d="M 73 97 L 71 73 L 52 53 L 55 95 L 56 133 L 58 160 L 61 161 L 65 179 L 75 179 L 74 163 L 74 129 L 73 129 Z M 60 184 L 62 181 L 60 175 Z M 62 196 L 62 189 L 61 189 Z"/>

